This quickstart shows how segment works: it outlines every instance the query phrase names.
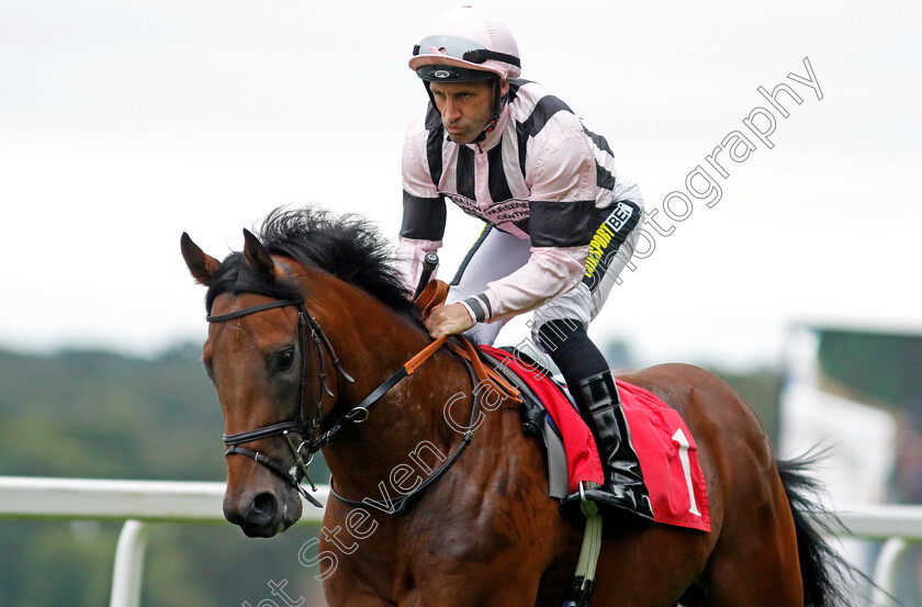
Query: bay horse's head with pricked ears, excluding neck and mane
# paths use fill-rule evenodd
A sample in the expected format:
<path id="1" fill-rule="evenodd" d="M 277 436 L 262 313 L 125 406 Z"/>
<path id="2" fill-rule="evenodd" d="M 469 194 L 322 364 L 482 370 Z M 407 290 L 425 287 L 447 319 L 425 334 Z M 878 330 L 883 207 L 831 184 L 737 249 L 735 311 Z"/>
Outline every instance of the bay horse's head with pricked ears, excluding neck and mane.
<path id="1" fill-rule="evenodd" d="M 325 352 L 308 345 L 313 326 L 285 268 L 256 236 L 244 236 L 243 254 L 223 262 L 185 234 L 181 246 L 192 276 L 209 288 L 202 359 L 224 414 L 224 516 L 247 536 L 271 537 L 301 517 L 300 472 L 292 469 L 310 438 L 306 421 L 324 400 L 308 366 L 322 367 Z"/>

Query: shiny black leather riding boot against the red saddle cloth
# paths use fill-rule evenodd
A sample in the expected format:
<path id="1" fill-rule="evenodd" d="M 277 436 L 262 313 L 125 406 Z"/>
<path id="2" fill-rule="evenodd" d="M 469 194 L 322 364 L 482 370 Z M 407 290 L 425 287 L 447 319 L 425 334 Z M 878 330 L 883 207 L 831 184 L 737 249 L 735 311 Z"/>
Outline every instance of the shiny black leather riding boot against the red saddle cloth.
<path id="1" fill-rule="evenodd" d="M 561 504 L 585 497 L 653 520 L 650 494 L 631 446 L 631 431 L 611 372 L 604 371 L 584 379 L 573 386 L 572 393 L 595 437 L 605 484 L 588 483 L 592 486 L 587 486 L 584 483 L 580 492 L 567 495 Z"/>

